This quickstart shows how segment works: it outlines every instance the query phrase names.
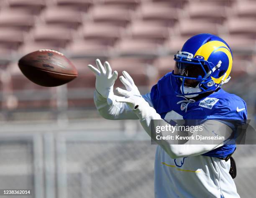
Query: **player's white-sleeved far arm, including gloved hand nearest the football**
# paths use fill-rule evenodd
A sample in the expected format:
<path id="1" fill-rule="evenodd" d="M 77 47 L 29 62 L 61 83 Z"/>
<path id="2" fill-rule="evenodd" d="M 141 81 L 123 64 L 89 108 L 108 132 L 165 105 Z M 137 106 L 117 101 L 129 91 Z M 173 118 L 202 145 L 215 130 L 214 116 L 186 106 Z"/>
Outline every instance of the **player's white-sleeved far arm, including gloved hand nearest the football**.
<path id="1" fill-rule="evenodd" d="M 118 76 L 117 71 L 112 73 L 107 61 L 103 66 L 97 59 L 96 64 L 97 68 L 92 65 L 88 65 L 88 67 L 96 75 L 94 102 L 101 116 L 105 119 L 138 119 L 127 104 L 116 102 L 116 98 L 119 96 L 114 95 L 113 86 Z M 145 94 L 143 97 L 151 104 L 150 94 Z"/>

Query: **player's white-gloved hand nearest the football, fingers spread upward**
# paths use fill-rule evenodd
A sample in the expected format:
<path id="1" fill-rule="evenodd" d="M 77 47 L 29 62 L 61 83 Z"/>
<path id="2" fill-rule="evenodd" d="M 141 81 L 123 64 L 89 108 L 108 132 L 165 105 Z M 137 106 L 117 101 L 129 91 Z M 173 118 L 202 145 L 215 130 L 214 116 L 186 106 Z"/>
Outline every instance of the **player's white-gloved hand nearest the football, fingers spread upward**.
<path id="1" fill-rule="evenodd" d="M 102 66 L 100 59 L 96 59 L 97 68 L 92 65 L 88 65 L 89 69 L 93 71 L 96 75 L 96 90 L 104 97 L 110 98 L 113 96 L 113 86 L 115 80 L 117 79 L 118 72 L 114 71 L 112 74 L 112 69 L 110 64 L 106 61 L 104 66 Z"/>

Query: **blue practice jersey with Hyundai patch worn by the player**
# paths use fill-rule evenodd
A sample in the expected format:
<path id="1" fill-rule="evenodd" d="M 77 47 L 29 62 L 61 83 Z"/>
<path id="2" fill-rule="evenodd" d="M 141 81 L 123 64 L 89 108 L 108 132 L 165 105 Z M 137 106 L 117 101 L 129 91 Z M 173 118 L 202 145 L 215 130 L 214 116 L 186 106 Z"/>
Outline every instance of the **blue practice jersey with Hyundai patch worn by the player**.
<path id="1" fill-rule="evenodd" d="M 162 119 L 166 119 L 166 114 L 174 111 L 181 115 L 182 119 L 197 119 L 200 120 L 200 123 L 209 119 L 216 119 L 223 122 L 224 120 L 232 120 L 229 126 L 233 130 L 236 130 L 239 125 L 245 124 L 247 109 L 243 99 L 235 94 L 230 94 L 223 89 L 219 89 L 193 103 L 187 104 L 189 100 L 179 103 L 184 100 L 183 97 L 176 96 L 175 94 L 175 91 L 180 91 L 180 85 L 177 84 L 176 79 L 170 74 L 168 73 L 162 77 L 151 89 L 152 104 Z M 169 117 L 169 119 L 175 118 Z M 235 149 L 236 145 L 234 144 L 223 145 L 203 155 L 225 158 L 233 153 Z"/>

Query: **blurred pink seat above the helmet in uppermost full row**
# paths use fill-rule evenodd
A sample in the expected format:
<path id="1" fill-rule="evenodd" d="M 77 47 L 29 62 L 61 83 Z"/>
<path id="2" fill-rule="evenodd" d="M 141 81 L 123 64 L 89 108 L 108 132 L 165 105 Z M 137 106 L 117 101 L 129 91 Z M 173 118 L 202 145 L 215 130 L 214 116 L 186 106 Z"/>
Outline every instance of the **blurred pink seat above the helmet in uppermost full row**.
<path id="1" fill-rule="evenodd" d="M 189 3 L 185 10 L 192 19 L 222 23 L 226 18 L 225 7 L 210 3 Z"/>

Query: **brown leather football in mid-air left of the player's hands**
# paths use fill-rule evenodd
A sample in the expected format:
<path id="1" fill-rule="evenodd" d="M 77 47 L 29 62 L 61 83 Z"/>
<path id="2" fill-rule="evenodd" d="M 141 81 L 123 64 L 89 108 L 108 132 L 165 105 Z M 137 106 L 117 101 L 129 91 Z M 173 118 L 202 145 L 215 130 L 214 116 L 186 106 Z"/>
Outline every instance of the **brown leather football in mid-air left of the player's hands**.
<path id="1" fill-rule="evenodd" d="M 41 49 L 20 58 L 18 66 L 32 82 L 41 86 L 59 86 L 77 77 L 77 69 L 62 53 Z"/>

